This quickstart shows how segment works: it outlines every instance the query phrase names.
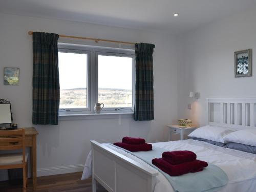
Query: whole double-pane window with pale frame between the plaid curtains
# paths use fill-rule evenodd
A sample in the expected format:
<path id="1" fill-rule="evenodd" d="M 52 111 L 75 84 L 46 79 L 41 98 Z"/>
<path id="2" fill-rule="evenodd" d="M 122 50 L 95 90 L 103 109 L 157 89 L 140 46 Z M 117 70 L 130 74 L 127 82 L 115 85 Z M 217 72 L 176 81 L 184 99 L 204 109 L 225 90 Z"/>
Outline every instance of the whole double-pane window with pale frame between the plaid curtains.
<path id="1" fill-rule="evenodd" d="M 133 112 L 134 50 L 58 45 L 59 114 Z"/>

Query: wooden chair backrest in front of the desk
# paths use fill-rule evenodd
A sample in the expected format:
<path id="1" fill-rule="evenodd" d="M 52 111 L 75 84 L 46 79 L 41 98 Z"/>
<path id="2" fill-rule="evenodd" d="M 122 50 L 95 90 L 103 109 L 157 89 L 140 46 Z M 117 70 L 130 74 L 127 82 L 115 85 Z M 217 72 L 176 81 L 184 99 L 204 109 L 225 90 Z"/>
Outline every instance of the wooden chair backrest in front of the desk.
<path id="1" fill-rule="evenodd" d="M 0 131 L 0 151 L 25 151 L 25 130 Z"/>

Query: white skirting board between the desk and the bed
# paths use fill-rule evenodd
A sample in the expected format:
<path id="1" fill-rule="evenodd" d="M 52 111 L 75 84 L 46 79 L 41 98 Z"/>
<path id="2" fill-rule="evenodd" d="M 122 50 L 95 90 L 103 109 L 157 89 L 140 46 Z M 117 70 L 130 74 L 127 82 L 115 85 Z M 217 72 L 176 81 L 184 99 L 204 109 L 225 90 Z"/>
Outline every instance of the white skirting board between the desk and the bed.
<path id="1" fill-rule="evenodd" d="M 82 172 L 84 164 L 79 165 L 68 165 L 68 166 L 58 166 L 51 168 L 38 168 L 37 177 L 48 176 L 48 175 L 57 175 L 57 174 L 67 174 L 74 172 Z"/>

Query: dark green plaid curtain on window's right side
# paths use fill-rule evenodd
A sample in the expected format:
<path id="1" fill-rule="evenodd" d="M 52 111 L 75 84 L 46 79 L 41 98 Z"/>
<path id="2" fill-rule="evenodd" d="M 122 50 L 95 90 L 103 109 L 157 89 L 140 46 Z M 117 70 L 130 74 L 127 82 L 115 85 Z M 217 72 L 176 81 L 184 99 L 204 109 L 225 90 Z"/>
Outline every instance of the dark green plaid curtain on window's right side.
<path id="1" fill-rule="evenodd" d="M 154 119 L 153 52 L 155 45 L 139 43 L 135 45 L 136 80 L 134 120 Z"/>

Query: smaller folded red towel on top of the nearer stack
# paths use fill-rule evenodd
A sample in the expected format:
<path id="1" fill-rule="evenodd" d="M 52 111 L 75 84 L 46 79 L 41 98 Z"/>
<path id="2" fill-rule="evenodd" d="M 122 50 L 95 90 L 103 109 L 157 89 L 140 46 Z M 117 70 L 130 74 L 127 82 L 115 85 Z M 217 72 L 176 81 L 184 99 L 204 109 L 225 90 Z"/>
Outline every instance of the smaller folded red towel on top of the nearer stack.
<path id="1" fill-rule="evenodd" d="M 190 151 L 173 151 L 173 152 L 164 152 L 162 158 L 173 165 L 180 163 L 185 163 L 193 161 L 197 158 L 197 155 L 194 152 Z"/>

